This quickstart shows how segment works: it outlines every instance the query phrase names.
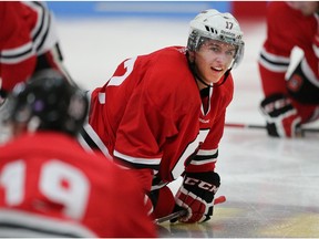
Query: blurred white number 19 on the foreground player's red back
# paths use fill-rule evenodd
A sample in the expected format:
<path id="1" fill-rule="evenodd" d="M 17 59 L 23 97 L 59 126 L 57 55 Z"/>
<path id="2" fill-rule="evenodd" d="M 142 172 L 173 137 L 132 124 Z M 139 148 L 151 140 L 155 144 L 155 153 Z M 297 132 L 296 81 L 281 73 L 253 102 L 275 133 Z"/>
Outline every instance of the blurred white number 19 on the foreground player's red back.
<path id="1" fill-rule="evenodd" d="M 7 164 L 0 173 L 0 186 L 4 188 L 4 202 L 19 206 L 25 197 L 27 165 L 21 160 Z M 33 172 L 34 173 L 34 172 Z M 64 215 L 81 219 L 86 210 L 90 183 L 78 168 L 52 159 L 40 168 L 39 191 L 49 200 L 64 206 Z"/>

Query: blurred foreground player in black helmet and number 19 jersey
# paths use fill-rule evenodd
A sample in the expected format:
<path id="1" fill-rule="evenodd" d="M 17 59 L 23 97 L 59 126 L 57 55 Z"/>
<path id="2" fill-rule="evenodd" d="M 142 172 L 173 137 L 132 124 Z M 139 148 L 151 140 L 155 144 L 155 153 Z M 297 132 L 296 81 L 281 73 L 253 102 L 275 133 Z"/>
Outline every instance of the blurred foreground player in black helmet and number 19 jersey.
<path id="1" fill-rule="evenodd" d="M 53 70 L 9 95 L 14 137 L 0 147 L 0 237 L 156 237 L 137 179 L 74 138 L 88 105 Z"/>

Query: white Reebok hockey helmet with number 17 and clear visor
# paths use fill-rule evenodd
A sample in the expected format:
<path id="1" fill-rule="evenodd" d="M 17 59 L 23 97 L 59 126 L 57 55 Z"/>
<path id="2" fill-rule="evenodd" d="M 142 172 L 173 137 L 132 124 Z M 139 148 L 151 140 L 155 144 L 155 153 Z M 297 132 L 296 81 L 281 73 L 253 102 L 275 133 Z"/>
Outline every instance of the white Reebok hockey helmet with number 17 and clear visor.
<path id="1" fill-rule="evenodd" d="M 218 40 L 236 45 L 237 52 L 231 67 L 236 67 L 240 63 L 244 56 L 245 43 L 239 23 L 233 14 L 208 9 L 197 14 L 189 24 L 187 42 L 189 51 L 197 51 L 207 39 Z"/>

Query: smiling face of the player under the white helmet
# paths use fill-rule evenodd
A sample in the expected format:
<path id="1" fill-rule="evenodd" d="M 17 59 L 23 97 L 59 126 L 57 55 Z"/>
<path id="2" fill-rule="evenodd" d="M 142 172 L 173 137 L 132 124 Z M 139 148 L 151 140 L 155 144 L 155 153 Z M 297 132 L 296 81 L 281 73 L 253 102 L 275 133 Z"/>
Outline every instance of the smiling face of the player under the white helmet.
<path id="1" fill-rule="evenodd" d="M 198 76 L 207 84 L 217 83 L 233 63 L 235 54 L 235 45 L 217 40 L 206 41 L 195 52 Z"/>

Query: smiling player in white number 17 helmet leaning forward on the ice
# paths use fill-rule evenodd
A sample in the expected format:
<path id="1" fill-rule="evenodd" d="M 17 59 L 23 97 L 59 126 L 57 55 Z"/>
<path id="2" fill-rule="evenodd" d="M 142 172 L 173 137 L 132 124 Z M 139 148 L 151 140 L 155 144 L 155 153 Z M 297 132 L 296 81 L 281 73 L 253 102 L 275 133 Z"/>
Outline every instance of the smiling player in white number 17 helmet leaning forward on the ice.
<path id="1" fill-rule="evenodd" d="M 220 184 L 215 164 L 241 38 L 230 13 L 203 11 L 191 21 L 187 48 L 127 59 L 91 94 L 90 126 L 115 160 L 141 179 L 155 218 L 179 207 L 188 211 L 183 222 L 213 215 Z M 181 175 L 174 198 L 166 185 Z"/>

